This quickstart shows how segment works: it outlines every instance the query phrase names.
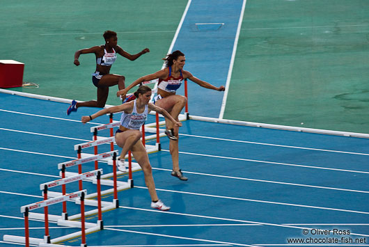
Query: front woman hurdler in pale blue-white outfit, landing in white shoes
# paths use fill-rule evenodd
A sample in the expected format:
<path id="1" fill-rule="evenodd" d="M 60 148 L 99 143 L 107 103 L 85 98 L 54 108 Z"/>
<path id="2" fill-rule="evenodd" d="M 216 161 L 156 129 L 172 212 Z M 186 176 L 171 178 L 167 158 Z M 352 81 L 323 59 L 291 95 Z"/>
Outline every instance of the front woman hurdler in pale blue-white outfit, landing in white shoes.
<path id="1" fill-rule="evenodd" d="M 151 89 L 148 86 L 140 86 L 134 95 L 136 95 L 136 99 L 134 101 L 97 111 L 97 113 L 94 113 L 93 115 L 84 115 L 81 121 L 86 123 L 100 115 L 123 111 L 122 117 L 120 118 L 120 127 L 116 132 L 116 144 L 122 148 L 120 158 L 124 159 L 125 154 L 127 154 L 129 150 L 132 151 L 134 159 L 136 159 L 143 170 L 146 186 L 148 186 L 148 191 L 152 200 L 151 207 L 164 211 L 169 210 L 170 207 L 164 205 L 164 203 L 157 197 L 148 153 L 140 141 L 142 134 L 139 131 L 139 128 L 145 123 L 146 117 L 150 111 L 156 111 L 157 113 L 164 115 L 168 120 L 171 120 L 175 127 L 182 126 L 182 123 L 175 121 L 164 109 L 149 103 Z"/>

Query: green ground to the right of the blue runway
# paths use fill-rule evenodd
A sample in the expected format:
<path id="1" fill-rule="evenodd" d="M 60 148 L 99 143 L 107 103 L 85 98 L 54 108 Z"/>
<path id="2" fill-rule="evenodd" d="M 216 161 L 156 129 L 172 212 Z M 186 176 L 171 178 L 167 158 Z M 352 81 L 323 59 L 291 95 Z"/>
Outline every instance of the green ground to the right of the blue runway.
<path id="1" fill-rule="evenodd" d="M 224 118 L 369 133 L 368 19 L 366 0 L 248 0 Z"/>

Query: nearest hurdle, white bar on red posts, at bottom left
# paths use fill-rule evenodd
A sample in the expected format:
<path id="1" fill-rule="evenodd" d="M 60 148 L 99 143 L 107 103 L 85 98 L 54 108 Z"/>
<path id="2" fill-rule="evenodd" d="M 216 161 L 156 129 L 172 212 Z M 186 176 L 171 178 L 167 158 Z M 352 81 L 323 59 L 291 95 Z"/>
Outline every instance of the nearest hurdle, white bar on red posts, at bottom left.
<path id="1" fill-rule="evenodd" d="M 64 195 L 64 196 L 59 196 L 57 198 L 42 200 L 40 202 L 35 202 L 29 205 L 22 206 L 20 208 L 20 212 L 24 214 L 24 237 L 15 236 L 15 235 L 3 235 L 3 241 L 9 242 L 9 243 L 25 244 L 26 247 L 29 247 L 30 244 L 35 244 L 35 245 L 56 244 L 58 242 L 65 241 L 67 239 L 81 236 L 81 247 L 86 247 L 87 246 L 86 245 L 86 234 L 100 230 L 100 226 L 90 227 L 90 225 L 86 225 L 85 218 L 84 218 L 84 196 L 86 195 L 86 192 L 87 192 L 86 190 L 77 191 L 73 193 L 68 193 L 67 195 Z M 72 234 L 68 234 L 62 237 L 57 237 L 55 239 L 50 239 L 49 226 L 48 226 L 47 221 L 45 221 L 44 239 L 36 239 L 36 238 L 29 237 L 29 212 L 31 210 L 40 209 L 42 207 L 47 208 L 51 205 L 54 205 L 60 202 L 65 202 L 67 200 L 72 200 L 78 197 L 81 200 L 81 222 L 79 223 L 79 227 L 81 228 L 81 231 L 74 232 Z M 45 218 L 47 218 L 47 211 L 45 211 Z"/>

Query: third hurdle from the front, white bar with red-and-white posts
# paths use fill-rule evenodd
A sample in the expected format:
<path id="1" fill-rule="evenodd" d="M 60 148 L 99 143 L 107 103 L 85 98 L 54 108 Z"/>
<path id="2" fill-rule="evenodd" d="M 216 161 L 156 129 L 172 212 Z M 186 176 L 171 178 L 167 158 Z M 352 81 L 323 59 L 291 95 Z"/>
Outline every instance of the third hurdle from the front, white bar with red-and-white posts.
<path id="1" fill-rule="evenodd" d="M 88 162 L 92 162 L 92 161 L 98 161 L 101 159 L 106 159 L 109 157 L 113 158 L 113 181 L 111 180 L 102 180 L 100 181 L 102 185 L 108 185 L 111 186 L 111 184 L 113 185 L 113 189 L 107 189 L 104 191 L 101 191 L 102 195 L 106 195 L 109 193 L 113 193 L 114 198 L 113 198 L 113 204 L 116 205 L 116 207 L 118 207 L 118 190 L 119 191 L 123 191 L 124 189 L 130 189 L 132 188 L 132 184 L 130 182 L 118 182 L 117 181 L 117 173 L 116 173 L 116 157 L 118 155 L 118 151 L 114 150 L 114 151 L 110 151 L 110 152 L 104 152 L 102 154 L 97 154 L 97 155 L 93 155 L 91 157 L 86 157 L 86 158 L 81 158 L 81 159 L 74 159 L 72 161 L 67 161 L 67 162 L 63 162 L 63 163 L 59 163 L 58 164 L 58 169 L 61 169 L 61 175 L 62 177 L 71 177 L 76 175 L 77 173 L 66 173 L 65 172 L 65 168 L 71 167 L 71 166 L 81 166 L 81 164 L 85 164 Z M 93 183 L 96 183 L 96 180 L 91 180 Z M 81 188 L 81 180 L 79 181 L 79 188 Z M 52 193 L 50 193 L 52 195 Z M 90 193 L 88 195 L 86 195 L 86 199 L 91 199 L 97 196 L 97 193 Z M 90 203 L 90 200 L 88 200 L 88 203 Z M 91 205 L 94 206 L 94 205 Z"/>

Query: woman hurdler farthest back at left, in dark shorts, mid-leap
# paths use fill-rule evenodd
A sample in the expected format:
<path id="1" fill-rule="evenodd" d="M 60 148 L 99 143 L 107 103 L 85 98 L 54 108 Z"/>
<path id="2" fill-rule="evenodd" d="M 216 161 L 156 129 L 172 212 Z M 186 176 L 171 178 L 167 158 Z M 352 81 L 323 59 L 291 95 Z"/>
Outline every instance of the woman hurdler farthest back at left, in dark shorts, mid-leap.
<path id="1" fill-rule="evenodd" d="M 117 45 L 118 38 L 116 32 L 105 31 L 104 32 L 105 45 L 98 45 L 88 49 L 80 49 L 74 54 L 74 65 L 79 66 L 78 58 L 81 54 L 94 53 L 96 56 L 96 70 L 93 73 L 93 84 L 97 87 L 97 101 L 91 100 L 88 102 L 76 102 L 72 101 L 68 108 L 67 114 L 72 111 L 77 111 L 78 107 L 104 107 L 109 95 L 109 87 L 118 84 L 119 90 L 125 88 L 125 77 L 119 74 L 109 74 L 111 65 L 116 61 L 116 54 L 120 54 L 125 58 L 134 61 L 142 54 L 146 54 L 150 50 L 148 48 L 143 49 L 138 54 L 131 55 L 127 51 L 124 51 L 119 45 Z"/>

